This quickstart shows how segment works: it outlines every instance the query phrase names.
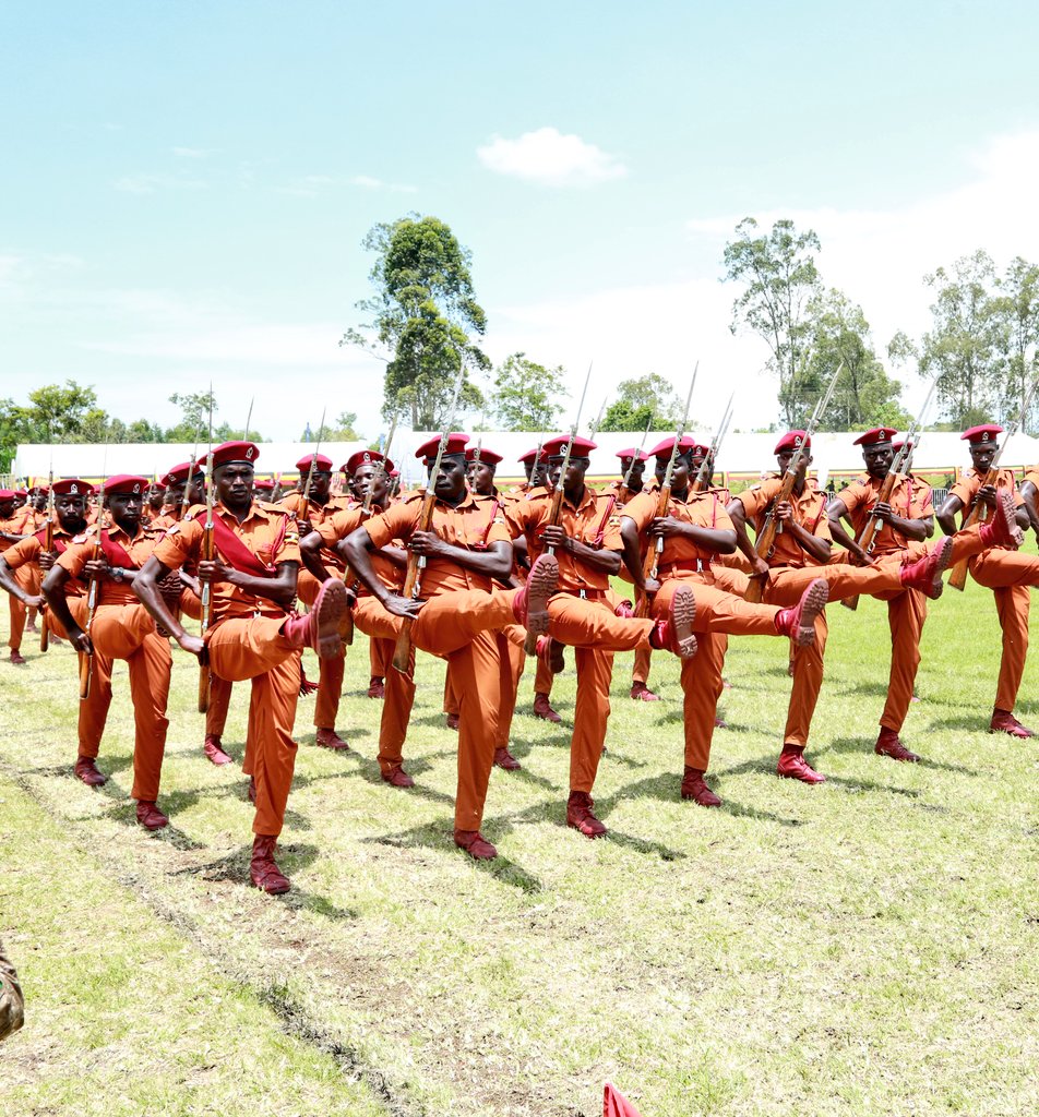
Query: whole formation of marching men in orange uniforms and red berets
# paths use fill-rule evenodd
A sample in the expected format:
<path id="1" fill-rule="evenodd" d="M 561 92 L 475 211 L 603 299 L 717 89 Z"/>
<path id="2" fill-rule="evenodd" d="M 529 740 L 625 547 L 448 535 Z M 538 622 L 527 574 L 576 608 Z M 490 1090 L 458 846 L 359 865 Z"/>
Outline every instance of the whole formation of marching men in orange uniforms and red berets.
<path id="1" fill-rule="evenodd" d="M 559 722 L 552 680 L 568 647 L 578 691 L 565 813 L 588 838 L 607 833 L 591 793 L 617 651 L 636 653 L 630 694 L 641 701 L 657 697 L 651 653 L 678 658 L 679 793 L 709 808 L 721 803 L 705 776 L 728 637 L 788 641 L 792 686 L 776 772 L 822 782 L 804 750 L 822 682 L 828 601 L 887 601 L 890 681 L 875 751 L 918 760 L 899 733 L 927 601 L 940 596 L 950 567 L 961 588 L 969 572 L 995 595 L 1002 663 L 989 727 L 1027 738 L 1031 731 L 1013 709 L 1039 557 L 1018 548 L 1022 528 L 1039 524 L 1039 468 L 1020 486 L 1012 470 L 997 468 L 1000 433 L 986 424 L 963 435 L 973 468 L 938 509 L 912 474 L 912 439 L 895 442 L 886 427 L 856 440 L 864 472 L 829 503 L 808 476 L 810 429 L 780 438 L 774 475 L 736 496 L 712 484 L 713 448 L 680 431 L 648 452 L 621 451 L 621 476 L 604 491 L 584 479 L 595 443 L 573 431 L 524 455 L 527 481 L 508 491 L 495 485 L 501 457 L 455 432 L 419 448 L 428 484 L 403 494 L 393 493 L 393 462 L 376 451 L 342 465 L 346 491 L 337 493 L 332 460 L 315 451 L 297 462 L 295 489 L 275 502 L 278 494 L 255 485 L 261 447 L 246 441 L 173 466 L 160 486 L 123 475 L 96 487 L 53 480 L 23 499 L 0 490 L 10 662 L 26 667 L 25 632 L 38 631 L 42 650 L 60 639 L 78 652 L 75 774 L 96 786 L 107 780 L 97 757 L 112 665 L 126 660 L 136 727 L 131 795 L 137 820 L 152 830 L 168 824 L 159 792 L 170 640 L 198 657 L 203 750 L 213 764 L 231 763 L 221 742 L 231 687 L 250 680 L 250 877 L 268 892 L 289 888 L 275 853 L 296 760 L 296 704 L 301 687 L 313 688 L 302 653 L 309 647 L 320 662 L 316 743 L 346 748 L 336 716 L 354 627 L 370 638 L 369 694 L 382 698 L 379 764 L 394 789 L 413 786 L 404 745 L 416 650 L 447 661 L 445 708 L 458 732 L 455 842 L 475 858 L 497 852 L 480 833 L 492 768 L 520 767 L 508 744 L 525 659 L 536 659 L 534 713 Z M 942 534 L 931 542 L 935 521 Z M 616 575 L 626 580 L 623 592 Z"/>

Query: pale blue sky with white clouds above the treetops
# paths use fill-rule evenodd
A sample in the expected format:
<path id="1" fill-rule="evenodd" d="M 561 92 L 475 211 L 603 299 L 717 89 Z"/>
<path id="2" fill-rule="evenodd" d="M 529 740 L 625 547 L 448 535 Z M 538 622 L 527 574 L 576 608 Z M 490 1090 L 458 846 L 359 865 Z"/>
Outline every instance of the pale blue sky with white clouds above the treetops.
<path id="1" fill-rule="evenodd" d="M 925 271 L 1039 259 L 1037 30 L 1024 3 L 9 3 L 0 395 L 72 376 L 173 422 L 212 379 L 268 438 L 326 403 L 373 437 L 381 366 L 336 342 L 365 231 L 417 210 L 471 249 L 496 360 L 575 397 L 590 360 L 607 395 L 699 357 L 698 418 L 736 385 L 768 423 L 718 284 L 736 221 L 816 228 L 880 345 L 926 328 Z"/>

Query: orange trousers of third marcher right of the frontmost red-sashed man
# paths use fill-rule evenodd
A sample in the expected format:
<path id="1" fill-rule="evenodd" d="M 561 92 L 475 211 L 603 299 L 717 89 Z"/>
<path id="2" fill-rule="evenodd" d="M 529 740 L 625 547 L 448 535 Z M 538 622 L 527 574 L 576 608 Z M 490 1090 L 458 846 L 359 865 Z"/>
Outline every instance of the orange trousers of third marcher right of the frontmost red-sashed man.
<path id="1" fill-rule="evenodd" d="M 680 682 L 685 695 L 685 763 L 687 767 L 700 772 L 706 772 L 711 761 L 711 739 L 718 698 L 722 697 L 722 669 L 728 636 L 779 634 L 775 627 L 778 607 L 752 604 L 723 591 L 715 584 L 715 574 L 714 570 L 709 570 L 669 577 L 661 583 L 652 603 L 652 615 L 665 617 L 679 585 L 690 586 L 696 598 L 693 630 L 698 650 L 693 659 L 681 661 Z M 717 581 L 721 581 L 721 575 Z"/>

